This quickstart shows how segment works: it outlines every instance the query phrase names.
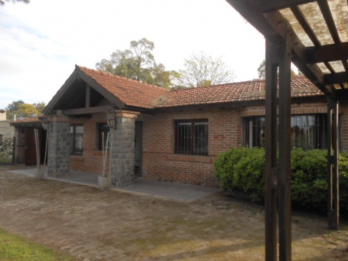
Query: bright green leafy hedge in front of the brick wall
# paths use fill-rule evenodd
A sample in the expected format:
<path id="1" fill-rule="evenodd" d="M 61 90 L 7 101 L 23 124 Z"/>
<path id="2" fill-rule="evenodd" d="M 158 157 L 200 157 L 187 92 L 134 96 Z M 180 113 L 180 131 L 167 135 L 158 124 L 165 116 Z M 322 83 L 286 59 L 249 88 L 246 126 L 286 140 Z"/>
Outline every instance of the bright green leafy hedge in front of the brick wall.
<path id="1" fill-rule="evenodd" d="M 326 212 L 327 150 L 292 149 L 292 205 Z M 231 148 L 214 161 L 216 177 L 226 193 L 244 193 L 254 202 L 264 202 L 264 148 Z M 341 152 L 340 209 L 348 210 L 348 152 Z"/>

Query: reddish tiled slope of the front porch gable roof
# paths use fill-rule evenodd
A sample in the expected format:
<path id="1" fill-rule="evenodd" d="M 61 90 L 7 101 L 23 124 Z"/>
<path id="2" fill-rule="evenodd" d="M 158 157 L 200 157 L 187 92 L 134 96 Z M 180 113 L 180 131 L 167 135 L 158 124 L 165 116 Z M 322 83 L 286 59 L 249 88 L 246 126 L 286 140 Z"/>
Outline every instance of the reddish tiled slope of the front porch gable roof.
<path id="1" fill-rule="evenodd" d="M 87 74 L 88 77 L 94 79 L 97 84 L 100 84 L 109 93 L 118 97 L 127 106 L 153 109 L 152 101 L 168 93 L 168 90 L 165 88 L 144 84 L 100 70 L 92 70 L 81 66 L 77 66 L 77 68 Z"/>

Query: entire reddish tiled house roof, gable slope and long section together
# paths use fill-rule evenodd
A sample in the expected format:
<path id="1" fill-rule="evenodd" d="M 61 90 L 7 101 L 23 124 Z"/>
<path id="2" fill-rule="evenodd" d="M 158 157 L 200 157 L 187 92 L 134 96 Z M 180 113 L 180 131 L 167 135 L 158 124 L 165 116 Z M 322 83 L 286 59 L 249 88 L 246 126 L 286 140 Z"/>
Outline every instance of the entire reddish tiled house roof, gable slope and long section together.
<path id="1" fill-rule="evenodd" d="M 195 104 L 249 102 L 264 100 L 265 98 L 266 81 L 262 79 L 170 91 L 100 70 L 92 70 L 81 66 L 77 66 L 77 68 L 96 81 L 102 88 L 109 91 L 109 93 L 118 97 L 127 106 L 154 109 Z M 324 95 L 321 90 L 304 76 L 293 77 L 291 86 L 292 97 Z"/>

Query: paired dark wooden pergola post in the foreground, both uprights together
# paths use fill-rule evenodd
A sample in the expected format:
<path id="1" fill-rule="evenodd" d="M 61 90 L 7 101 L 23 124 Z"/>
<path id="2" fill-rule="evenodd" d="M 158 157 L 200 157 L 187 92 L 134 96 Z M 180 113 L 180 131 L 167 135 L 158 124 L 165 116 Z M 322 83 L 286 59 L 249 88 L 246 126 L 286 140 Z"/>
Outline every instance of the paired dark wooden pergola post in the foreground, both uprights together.
<path id="1" fill-rule="evenodd" d="M 266 260 L 291 260 L 291 32 L 285 40 L 266 41 Z M 279 68 L 279 74 L 277 70 Z M 278 77 L 277 77 L 278 76 Z M 277 78 L 279 90 L 277 92 Z M 278 93 L 278 123 L 277 123 Z M 277 130 L 278 126 L 278 130 Z M 278 132 L 278 135 L 277 135 Z M 277 140 L 278 137 L 278 140 Z M 278 157 L 277 161 L 277 141 Z M 278 195 L 277 195 L 278 193 Z M 277 222 L 278 198 L 278 222 Z"/>

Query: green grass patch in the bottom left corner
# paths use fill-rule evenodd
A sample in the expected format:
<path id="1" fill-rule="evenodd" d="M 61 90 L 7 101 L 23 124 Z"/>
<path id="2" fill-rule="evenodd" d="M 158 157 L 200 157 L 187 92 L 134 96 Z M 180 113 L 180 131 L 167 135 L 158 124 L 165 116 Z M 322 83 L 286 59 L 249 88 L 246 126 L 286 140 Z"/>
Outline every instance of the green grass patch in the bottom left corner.
<path id="1" fill-rule="evenodd" d="M 56 251 L 22 237 L 10 235 L 5 230 L 0 229 L 0 260 L 73 261 L 75 259 L 62 251 Z"/>

